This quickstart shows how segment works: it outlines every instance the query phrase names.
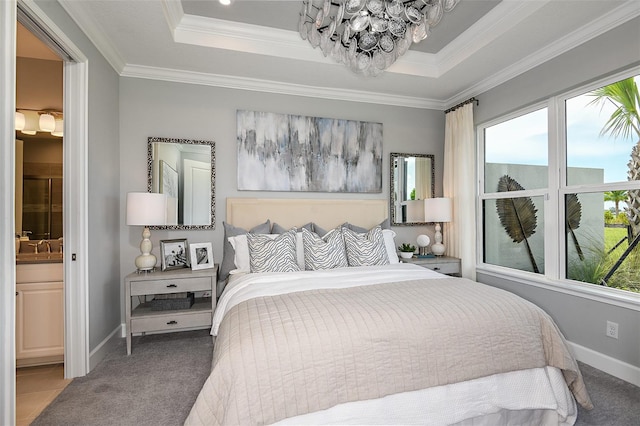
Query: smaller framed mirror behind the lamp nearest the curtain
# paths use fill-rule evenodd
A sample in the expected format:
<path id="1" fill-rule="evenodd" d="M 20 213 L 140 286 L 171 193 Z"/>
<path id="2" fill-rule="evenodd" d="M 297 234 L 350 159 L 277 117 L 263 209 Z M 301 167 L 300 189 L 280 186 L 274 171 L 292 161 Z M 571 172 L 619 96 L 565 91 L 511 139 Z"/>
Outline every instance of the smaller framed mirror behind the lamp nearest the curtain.
<path id="1" fill-rule="evenodd" d="M 390 170 L 391 225 L 427 225 L 424 221 L 424 199 L 435 197 L 433 155 L 392 152 Z"/>

